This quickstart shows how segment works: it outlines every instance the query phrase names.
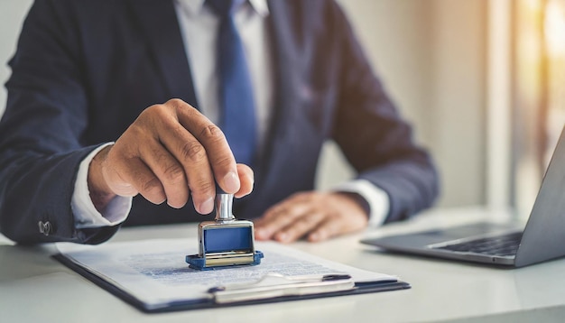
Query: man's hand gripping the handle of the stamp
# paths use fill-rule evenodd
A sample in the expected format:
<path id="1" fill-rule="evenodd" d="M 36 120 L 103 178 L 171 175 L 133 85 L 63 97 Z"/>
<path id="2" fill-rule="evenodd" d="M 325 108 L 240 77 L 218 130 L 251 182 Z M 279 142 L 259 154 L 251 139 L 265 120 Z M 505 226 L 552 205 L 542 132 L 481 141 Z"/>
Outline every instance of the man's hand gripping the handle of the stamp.
<path id="1" fill-rule="evenodd" d="M 182 208 L 192 196 L 200 214 L 214 209 L 215 180 L 241 198 L 253 189 L 253 171 L 236 164 L 218 126 L 180 99 L 150 106 L 88 169 L 95 207 L 116 195 L 141 194 L 154 204 Z"/>

